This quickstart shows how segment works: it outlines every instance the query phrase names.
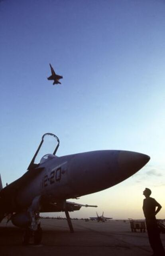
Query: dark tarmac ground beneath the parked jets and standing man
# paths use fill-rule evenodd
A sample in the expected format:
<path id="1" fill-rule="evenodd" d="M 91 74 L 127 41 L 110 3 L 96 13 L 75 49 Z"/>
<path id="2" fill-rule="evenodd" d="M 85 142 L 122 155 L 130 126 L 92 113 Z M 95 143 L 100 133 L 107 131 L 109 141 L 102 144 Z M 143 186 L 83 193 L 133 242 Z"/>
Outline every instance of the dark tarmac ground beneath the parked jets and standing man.
<path id="1" fill-rule="evenodd" d="M 23 230 L 6 220 L 0 223 L 0 256 L 149 256 L 152 250 L 147 233 L 131 232 L 127 220 L 96 222 L 72 220 L 74 233 L 67 220 L 41 219 L 41 244 L 22 245 Z M 165 234 L 161 234 L 165 247 Z"/>

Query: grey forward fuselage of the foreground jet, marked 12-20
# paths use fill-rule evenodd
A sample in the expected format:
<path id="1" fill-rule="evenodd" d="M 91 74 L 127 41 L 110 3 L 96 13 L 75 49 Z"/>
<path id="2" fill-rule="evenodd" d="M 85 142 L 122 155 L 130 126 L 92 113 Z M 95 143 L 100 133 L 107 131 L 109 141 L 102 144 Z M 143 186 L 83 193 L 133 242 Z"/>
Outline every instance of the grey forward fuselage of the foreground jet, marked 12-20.
<path id="1" fill-rule="evenodd" d="M 43 169 L 17 194 L 16 202 L 26 208 L 39 195 L 65 200 L 91 194 L 127 179 L 148 160 L 147 155 L 120 150 L 55 157 L 39 165 Z"/>

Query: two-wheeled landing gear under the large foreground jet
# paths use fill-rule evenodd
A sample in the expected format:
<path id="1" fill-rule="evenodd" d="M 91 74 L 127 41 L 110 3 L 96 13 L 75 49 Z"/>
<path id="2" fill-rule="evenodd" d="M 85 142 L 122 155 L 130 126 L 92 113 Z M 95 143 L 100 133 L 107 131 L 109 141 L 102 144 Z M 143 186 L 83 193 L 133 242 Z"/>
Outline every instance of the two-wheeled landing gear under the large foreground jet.
<path id="1" fill-rule="evenodd" d="M 31 218 L 31 225 L 23 234 L 22 243 L 24 245 L 32 244 L 31 240 L 33 240 L 33 244 L 37 245 L 40 244 L 42 240 L 42 228 L 39 222 L 39 214 L 32 213 Z"/>

